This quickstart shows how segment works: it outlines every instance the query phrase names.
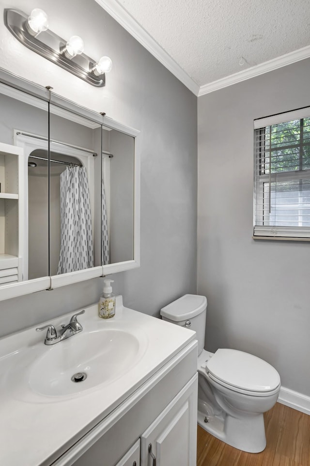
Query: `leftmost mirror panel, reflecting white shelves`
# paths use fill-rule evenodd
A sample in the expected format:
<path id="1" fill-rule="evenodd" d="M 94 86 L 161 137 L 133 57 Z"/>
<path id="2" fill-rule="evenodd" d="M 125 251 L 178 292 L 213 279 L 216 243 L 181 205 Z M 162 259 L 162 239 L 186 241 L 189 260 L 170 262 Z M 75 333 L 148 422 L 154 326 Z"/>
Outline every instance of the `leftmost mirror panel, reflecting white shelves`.
<path id="1" fill-rule="evenodd" d="M 0 83 L 0 285 L 48 276 L 48 104 Z M 39 194 L 40 193 L 40 194 Z"/>

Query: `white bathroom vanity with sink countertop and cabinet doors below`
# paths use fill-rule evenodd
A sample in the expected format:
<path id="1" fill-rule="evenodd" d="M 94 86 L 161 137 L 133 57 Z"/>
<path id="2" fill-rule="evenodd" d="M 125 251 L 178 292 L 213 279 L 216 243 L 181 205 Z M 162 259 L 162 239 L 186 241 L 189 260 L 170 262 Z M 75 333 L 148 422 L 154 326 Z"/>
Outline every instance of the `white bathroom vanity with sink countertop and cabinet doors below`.
<path id="1" fill-rule="evenodd" d="M 54 346 L 36 326 L 0 339 L 1 465 L 153 466 L 150 443 L 157 466 L 196 465 L 196 333 L 115 307 L 83 309 L 83 331 Z"/>

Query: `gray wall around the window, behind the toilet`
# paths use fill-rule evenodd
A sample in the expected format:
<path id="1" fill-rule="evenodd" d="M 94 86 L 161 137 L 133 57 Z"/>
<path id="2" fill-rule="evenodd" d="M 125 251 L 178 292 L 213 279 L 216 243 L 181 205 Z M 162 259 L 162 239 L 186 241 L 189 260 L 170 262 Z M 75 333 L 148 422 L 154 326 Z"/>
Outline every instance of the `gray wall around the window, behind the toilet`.
<path id="1" fill-rule="evenodd" d="M 253 231 L 253 119 L 310 104 L 310 60 L 198 99 L 198 292 L 206 349 L 235 348 L 310 395 L 310 243 Z"/>

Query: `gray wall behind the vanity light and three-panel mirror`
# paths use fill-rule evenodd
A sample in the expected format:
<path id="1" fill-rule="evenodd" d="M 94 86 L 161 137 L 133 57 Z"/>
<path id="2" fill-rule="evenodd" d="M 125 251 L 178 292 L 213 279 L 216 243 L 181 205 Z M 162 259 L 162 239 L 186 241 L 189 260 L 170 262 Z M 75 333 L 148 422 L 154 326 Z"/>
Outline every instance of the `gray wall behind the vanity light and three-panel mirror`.
<path id="1" fill-rule="evenodd" d="M 22 0 L 0 5 L 26 9 Z M 79 33 L 86 53 L 112 58 L 107 86 L 93 88 L 16 45 L 4 26 L 1 66 L 140 130 L 141 267 L 116 274 L 113 289 L 125 305 L 158 316 L 196 291 L 197 98 L 94 1 L 27 2 L 27 12 L 35 7 L 47 11 L 55 33 Z M 94 279 L 1 301 L 0 334 L 93 303 L 101 290 L 102 279 Z"/>

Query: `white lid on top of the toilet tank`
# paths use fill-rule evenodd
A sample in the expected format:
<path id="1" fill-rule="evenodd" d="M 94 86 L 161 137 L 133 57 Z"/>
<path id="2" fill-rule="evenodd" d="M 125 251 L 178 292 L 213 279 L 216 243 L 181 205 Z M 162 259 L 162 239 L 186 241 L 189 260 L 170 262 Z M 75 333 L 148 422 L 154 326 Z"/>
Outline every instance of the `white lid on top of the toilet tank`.
<path id="1" fill-rule="evenodd" d="M 207 307 L 207 299 L 200 295 L 184 295 L 163 307 L 160 315 L 175 322 L 191 319 L 201 314 Z"/>

